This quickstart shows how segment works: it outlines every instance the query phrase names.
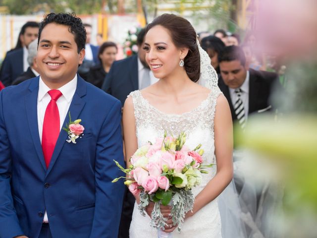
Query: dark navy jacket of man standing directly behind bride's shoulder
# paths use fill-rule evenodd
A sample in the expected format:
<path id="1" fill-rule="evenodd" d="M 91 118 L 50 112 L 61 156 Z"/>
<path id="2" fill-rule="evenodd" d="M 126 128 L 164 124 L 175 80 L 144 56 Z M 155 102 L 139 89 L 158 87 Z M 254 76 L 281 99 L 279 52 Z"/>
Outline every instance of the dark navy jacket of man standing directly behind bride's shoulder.
<path id="1" fill-rule="evenodd" d="M 114 61 L 102 89 L 121 101 L 122 107 L 127 96 L 139 89 L 138 56 Z"/>

